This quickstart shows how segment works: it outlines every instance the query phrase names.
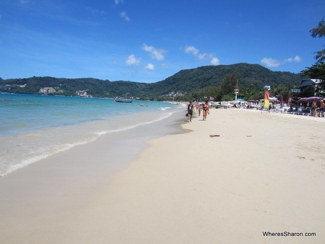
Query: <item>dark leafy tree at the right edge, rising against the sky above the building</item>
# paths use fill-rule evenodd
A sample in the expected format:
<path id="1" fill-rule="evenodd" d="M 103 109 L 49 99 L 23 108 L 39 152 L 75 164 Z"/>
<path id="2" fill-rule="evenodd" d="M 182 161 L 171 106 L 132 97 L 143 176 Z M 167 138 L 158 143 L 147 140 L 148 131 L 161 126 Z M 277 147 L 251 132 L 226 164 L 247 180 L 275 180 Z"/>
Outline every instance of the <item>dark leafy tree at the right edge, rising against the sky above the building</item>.
<path id="1" fill-rule="evenodd" d="M 317 27 L 310 29 L 311 36 L 313 38 L 325 36 L 325 20 L 322 18 Z M 311 66 L 306 67 L 307 69 L 302 70 L 303 75 L 309 75 L 310 78 L 321 79 L 319 88 L 325 89 L 325 49 L 315 52 L 315 59 L 317 61 Z"/>

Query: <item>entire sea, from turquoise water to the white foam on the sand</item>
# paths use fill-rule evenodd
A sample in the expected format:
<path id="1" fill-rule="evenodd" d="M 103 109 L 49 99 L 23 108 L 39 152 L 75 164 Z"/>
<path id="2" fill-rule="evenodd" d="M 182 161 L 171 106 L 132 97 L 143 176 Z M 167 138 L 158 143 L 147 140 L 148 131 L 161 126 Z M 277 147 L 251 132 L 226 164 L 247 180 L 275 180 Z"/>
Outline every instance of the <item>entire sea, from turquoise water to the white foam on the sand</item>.
<path id="1" fill-rule="evenodd" d="M 0 93 L 0 176 L 102 134 L 152 123 L 183 109 L 156 101 Z"/>

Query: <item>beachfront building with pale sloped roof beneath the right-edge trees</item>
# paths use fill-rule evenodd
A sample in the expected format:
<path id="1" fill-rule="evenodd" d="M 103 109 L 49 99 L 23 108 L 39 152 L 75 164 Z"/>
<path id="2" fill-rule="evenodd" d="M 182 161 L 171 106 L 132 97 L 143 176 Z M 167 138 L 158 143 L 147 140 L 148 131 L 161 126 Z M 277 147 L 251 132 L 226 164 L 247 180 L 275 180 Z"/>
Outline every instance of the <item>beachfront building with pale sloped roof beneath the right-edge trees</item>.
<path id="1" fill-rule="evenodd" d="M 296 96 L 320 96 L 325 90 L 319 88 L 320 79 L 302 79 L 298 87 L 291 89 L 290 93 Z"/>

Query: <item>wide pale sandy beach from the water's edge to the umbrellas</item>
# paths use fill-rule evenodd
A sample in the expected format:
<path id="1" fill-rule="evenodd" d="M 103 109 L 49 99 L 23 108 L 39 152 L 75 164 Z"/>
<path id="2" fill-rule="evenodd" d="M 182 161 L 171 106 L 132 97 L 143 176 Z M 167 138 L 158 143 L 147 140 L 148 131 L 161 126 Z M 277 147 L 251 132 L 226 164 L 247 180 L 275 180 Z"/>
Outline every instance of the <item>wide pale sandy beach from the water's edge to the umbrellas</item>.
<path id="1" fill-rule="evenodd" d="M 149 131 L 125 159 L 102 136 L 1 177 L 0 242 L 323 243 L 324 118 L 177 116 L 181 130 Z M 124 160 L 110 176 L 107 158 Z M 284 231 L 315 236 L 263 236 Z"/>

